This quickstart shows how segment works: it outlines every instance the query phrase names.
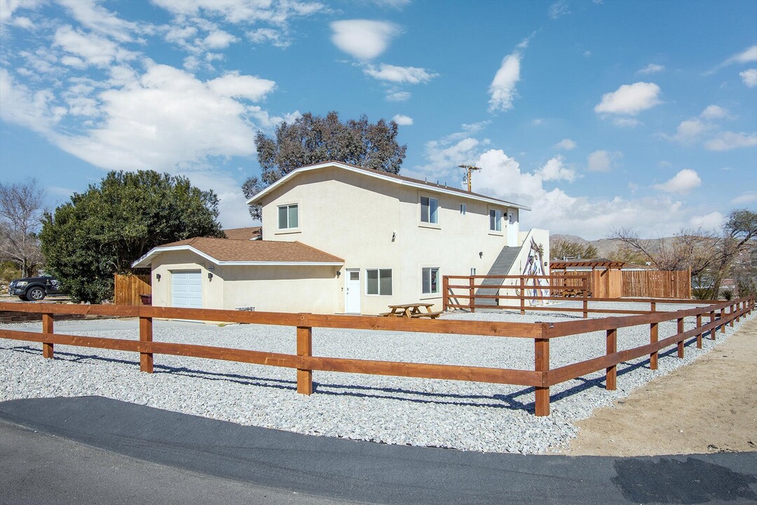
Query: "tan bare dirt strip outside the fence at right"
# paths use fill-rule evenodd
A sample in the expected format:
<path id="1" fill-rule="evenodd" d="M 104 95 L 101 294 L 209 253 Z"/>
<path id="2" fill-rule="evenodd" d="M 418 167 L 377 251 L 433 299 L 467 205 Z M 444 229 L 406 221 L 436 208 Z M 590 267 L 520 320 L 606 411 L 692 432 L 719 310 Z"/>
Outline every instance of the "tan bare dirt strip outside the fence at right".
<path id="1" fill-rule="evenodd" d="M 757 317 L 688 366 L 578 422 L 569 455 L 757 450 Z"/>

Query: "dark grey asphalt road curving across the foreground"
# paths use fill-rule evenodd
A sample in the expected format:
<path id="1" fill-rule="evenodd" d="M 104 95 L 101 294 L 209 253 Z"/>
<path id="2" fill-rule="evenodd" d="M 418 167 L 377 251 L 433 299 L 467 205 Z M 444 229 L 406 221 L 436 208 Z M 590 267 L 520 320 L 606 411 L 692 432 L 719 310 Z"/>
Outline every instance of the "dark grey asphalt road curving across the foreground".
<path id="1" fill-rule="evenodd" d="M 480 454 L 102 397 L 0 403 L 0 503 L 757 503 L 757 453 Z"/>

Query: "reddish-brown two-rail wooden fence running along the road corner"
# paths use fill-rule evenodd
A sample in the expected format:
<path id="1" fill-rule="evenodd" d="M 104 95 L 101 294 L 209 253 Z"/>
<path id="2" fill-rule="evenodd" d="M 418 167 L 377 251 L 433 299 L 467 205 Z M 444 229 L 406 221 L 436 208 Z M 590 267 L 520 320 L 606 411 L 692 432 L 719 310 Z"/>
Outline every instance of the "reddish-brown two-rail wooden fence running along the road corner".
<path id="1" fill-rule="evenodd" d="M 696 337 L 697 347 L 701 347 L 702 335 L 709 332 L 710 338 L 715 339 L 715 331 L 718 328 L 721 329 L 721 332 L 724 332 L 726 324 L 730 323 L 733 326 L 734 320 L 738 321 L 740 317 L 751 313 L 754 307 L 755 298 L 751 297 L 740 298 L 735 301 L 718 302 L 707 307 L 696 307 L 675 312 L 649 313 L 641 316 L 616 316 L 565 323 L 493 323 L 459 320 L 412 320 L 375 316 L 330 316 L 306 313 L 176 309 L 170 307 L 16 304 L 0 302 L 0 310 L 42 313 L 42 333 L 0 329 L 0 338 L 41 342 L 42 356 L 45 358 L 52 358 L 54 356 L 55 344 L 137 352 L 139 353 L 140 369 L 146 373 L 152 373 L 153 371 L 154 354 L 172 354 L 175 356 L 201 357 L 269 366 L 285 366 L 297 369 L 297 391 L 301 394 L 313 393 L 314 370 L 531 386 L 536 391 L 534 407 L 536 415 L 548 416 L 550 414 L 551 386 L 605 369 L 606 388 L 615 389 L 618 363 L 648 354 L 650 356 L 650 368 L 656 369 L 657 355 L 662 349 L 676 344 L 678 345 L 678 357 L 683 357 L 684 342 L 687 339 Z M 56 314 L 63 313 L 139 317 L 139 340 L 56 334 L 53 328 L 54 317 Z M 706 316 L 709 316 L 709 323 L 702 324 L 702 318 Z M 173 342 L 154 342 L 152 340 L 152 322 L 155 317 L 294 326 L 297 328 L 297 354 L 281 354 Z M 685 317 L 696 318 L 696 329 L 684 332 Z M 661 335 L 659 335 L 659 323 L 671 320 L 678 321 L 678 331 L 674 335 L 661 338 Z M 618 328 L 639 325 L 650 326 L 650 343 L 637 348 L 617 351 Z M 534 369 L 500 369 L 481 366 L 316 357 L 313 356 L 313 328 L 369 329 L 529 338 L 534 341 Z M 606 332 L 606 355 L 550 369 L 550 340 L 552 338 L 562 338 L 569 335 L 597 331 Z"/>

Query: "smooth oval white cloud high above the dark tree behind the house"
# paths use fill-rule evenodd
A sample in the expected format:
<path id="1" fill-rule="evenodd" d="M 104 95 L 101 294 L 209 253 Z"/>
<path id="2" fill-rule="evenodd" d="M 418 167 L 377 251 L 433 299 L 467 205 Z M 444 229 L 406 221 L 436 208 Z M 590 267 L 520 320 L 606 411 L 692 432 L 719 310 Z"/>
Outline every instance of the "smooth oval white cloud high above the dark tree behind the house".
<path id="1" fill-rule="evenodd" d="M 400 27 L 388 21 L 342 20 L 331 23 L 332 42 L 341 51 L 360 60 L 370 60 L 386 50 L 400 34 Z"/>

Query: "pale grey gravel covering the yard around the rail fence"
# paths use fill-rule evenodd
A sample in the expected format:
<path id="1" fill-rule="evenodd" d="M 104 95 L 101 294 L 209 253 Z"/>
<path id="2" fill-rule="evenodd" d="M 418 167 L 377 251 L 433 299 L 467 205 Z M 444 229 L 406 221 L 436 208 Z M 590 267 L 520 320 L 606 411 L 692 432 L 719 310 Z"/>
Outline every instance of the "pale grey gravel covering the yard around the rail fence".
<path id="1" fill-rule="evenodd" d="M 603 304 L 643 307 L 648 304 Z M 681 306 L 659 305 L 658 310 Z M 596 315 L 597 317 L 600 315 Z M 449 313 L 448 319 L 557 322 L 580 314 L 531 312 Z M 705 317 L 707 323 L 709 318 Z M 139 338 L 136 320 L 60 321 L 56 333 Z M 695 326 L 693 318 L 685 329 Z M 660 354 L 659 369 L 648 357 L 618 365 L 618 389 L 606 391 L 604 373 L 551 388 L 549 417 L 534 416 L 534 391 L 513 385 L 408 379 L 314 372 L 315 392 L 297 394 L 294 369 L 156 354 L 155 373 L 139 371 L 136 353 L 56 345 L 55 360 L 42 358 L 41 344 L 0 339 L 0 401 L 29 397 L 100 395 L 242 425 L 284 429 L 386 444 L 450 447 L 484 452 L 537 454 L 575 437 L 578 419 L 612 404 L 634 388 L 690 363 L 724 341 L 737 327 L 704 338 L 704 348 L 687 345 Z M 41 323 L 0 325 L 41 331 Z M 673 335 L 676 323 L 662 323 L 659 338 Z M 227 325 L 156 321 L 155 341 L 217 345 L 295 354 L 295 330 L 285 326 Z M 649 326 L 618 330 L 618 350 L 649 342 Z M 604 332 L 553 339 L 550 366 L 605 353 Z M 533 340 L 407 332 L 313 329 L 313 355 L 371 360 L 451 363 L 533 369 Z"/>

